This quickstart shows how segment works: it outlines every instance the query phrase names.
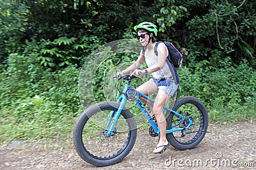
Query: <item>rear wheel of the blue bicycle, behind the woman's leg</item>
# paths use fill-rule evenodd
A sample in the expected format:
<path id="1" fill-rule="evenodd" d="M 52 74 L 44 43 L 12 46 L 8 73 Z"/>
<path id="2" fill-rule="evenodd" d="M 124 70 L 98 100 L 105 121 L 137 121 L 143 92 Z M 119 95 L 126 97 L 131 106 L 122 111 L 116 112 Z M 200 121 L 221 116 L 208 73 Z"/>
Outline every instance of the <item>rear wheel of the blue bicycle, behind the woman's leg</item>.
<path id="1" fill-rule="evenodd" d="M 194 148 L 205 136 L 208 127 L 208 113 L 204 104 L 196 97 L 184 96 L 175 101 L 174 111 L 193 120 L 193 124 L 184 131 L 167 134 L 167 139 L 174 148 L 186 150 Z M 180 119 L 174 113 L 167 117 L 167 129 L 184 128 L 188 120 Z"/>

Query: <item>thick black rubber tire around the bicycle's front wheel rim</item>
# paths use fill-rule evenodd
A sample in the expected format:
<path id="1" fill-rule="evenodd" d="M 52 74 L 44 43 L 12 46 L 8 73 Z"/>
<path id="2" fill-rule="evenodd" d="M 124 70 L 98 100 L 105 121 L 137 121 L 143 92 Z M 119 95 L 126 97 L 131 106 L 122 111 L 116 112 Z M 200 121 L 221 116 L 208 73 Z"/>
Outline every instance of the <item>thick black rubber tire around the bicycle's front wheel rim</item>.
<path id="1" fill-rule="evenodd" d="M 120 162 L 129 154 L 129 152 L 131 152 L 136 141 L 137 129 L 136 122 L 132 117 L 131 112 L 125 108 L 124 110 L 122 110 L 121 115 L 125 118 L 129 125 L 129 137 L 127 138 L 127 143 L 125 143 L 123 148 L 121 148 L 120 152 L 116 153 L 116 155 L 104 159 L 102 157 L 96 157 L 95 155 L 92 155 L 90 152 L 88 152 L 88 150 L 86 150 L 86 147 L 83 144 L 82 132 L 84 125 L 89 120 L 88 115 L 93 115 L 94 113 L 97 113 L 99 109 L 116 110 L 119 108 L 119 106 L 120 104 L 112 102 L 96 103 L 84 110 L 77 119 L 73 131 L 74 147 L 76 148 L 76 152 L 78 153 L 78 155 L 89 164 L 92 164 L 94 166 L 110 166 Z M 113 143 L 113 145 L 115 145 L 115 143 Z"/>

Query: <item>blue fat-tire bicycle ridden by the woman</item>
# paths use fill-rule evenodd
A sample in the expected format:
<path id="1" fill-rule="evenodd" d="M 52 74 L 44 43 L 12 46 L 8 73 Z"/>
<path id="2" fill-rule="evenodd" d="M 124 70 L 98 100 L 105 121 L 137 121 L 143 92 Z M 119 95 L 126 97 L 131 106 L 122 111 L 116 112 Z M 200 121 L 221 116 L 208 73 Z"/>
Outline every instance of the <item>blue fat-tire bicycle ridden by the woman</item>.
<path id="1" fill-rule="evenodd" d="M 154 116 L 141 103 L 139 96 L 154 103 L 130 85 L 135 76 L 124 75 L 118 81 L 127 81 L 117 103 L 100 102 L 81 113 L 74 126 L 74 146 L 79 156 L 95 166 L 110 166 L 124 159 L 131 152 L 137 136 L 137 125 L 132 113 L 125 108 L 127 100 L 135 101 L 150 124 L 150 136 L 159 136 Z M 196 97 L 185 96 L 175 101 L 174 106 L 164 106 L 166 138 L 179 150 L 194 148 L 202 141 L 207 131 L 208 115 L 204 104 Z"/>

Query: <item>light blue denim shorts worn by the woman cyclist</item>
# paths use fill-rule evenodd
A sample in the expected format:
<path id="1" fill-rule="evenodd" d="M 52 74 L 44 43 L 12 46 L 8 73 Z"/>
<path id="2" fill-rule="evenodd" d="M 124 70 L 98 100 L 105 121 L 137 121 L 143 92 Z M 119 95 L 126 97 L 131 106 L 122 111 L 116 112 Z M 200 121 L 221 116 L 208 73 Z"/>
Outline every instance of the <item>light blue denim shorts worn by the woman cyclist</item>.
<path id="1" fill-rule="evenodd" d="M 157 81 L 156 78 L 151 78 L 150 81 L 154 81 L 158 89 L 163 90 L 166 94 L 173 96 L 178 89 L 178 84 L 172 78 L 167 78 L 166 80 Z"/>

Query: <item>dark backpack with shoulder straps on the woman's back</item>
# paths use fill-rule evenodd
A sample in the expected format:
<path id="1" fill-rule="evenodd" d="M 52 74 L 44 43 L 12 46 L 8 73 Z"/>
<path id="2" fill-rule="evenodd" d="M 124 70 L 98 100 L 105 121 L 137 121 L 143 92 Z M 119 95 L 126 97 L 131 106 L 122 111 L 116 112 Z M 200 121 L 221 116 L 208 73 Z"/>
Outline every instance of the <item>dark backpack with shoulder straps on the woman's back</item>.
<path id="1" fill-rule="evenodd" d="M 155 45 L 154 52 L 156 55 L 158 55 L 157 46 L 161 42 L 162 41 L 158 41 Z M 179 50 L 177 50 L 177 48 L 175 48 L 175 46 L 171 42 L 164 41 L 163 43 L 164 43 L 164 45 L 166 45 L 168 52 L 169 52 L 167 59 L 173 64 L 174 67 L 179 67 L 182 62 L 182 54 L 179 52 Z M 142 51 L 143 55 L 145 55 L 145 50 L 146 50 L 146 48 L 143 48 L 143 51 Z"/>

